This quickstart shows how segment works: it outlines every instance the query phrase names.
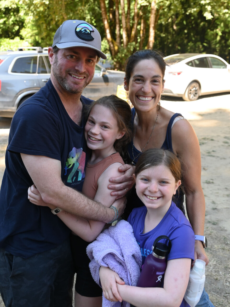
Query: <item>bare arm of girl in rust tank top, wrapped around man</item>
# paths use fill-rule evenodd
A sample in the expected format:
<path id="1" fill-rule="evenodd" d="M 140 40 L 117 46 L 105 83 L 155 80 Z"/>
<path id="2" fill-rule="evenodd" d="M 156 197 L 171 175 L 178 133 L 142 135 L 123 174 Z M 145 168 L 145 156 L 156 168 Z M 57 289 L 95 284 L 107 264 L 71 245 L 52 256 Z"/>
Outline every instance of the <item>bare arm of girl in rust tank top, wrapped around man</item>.
<path id="1" fill-rule="evenodd" d="M 99 177 L 98 179 L 98 190 L 94 197 L 94 200 L 105 205 L 105 207 L 110 207 L 113 202 L 115 201 L 116 196 L 111 196 L 111 191 L 107 188 L 109 183 L 109 178 L 115 174 L 117 175 L 118 166 L 121 163 L 113 163 L 110 165 Z M 29 200 L 36 205 L 46 205 L 51 209 L 56 208 L 52 204 L 45 203 L 36 187 L 33 185 L 31 189 L 28 189 L 28 198 Z M 114 212 L 115 214 L 115 212 Z M 92 242 L 96 237 L 100 234 L 103 227 L 105 226 L 104 222 L 93 221 L 93 220 L 86 220 L 74 214 L 71 214 L 66 211 L 61 211 L 57 215 L 63 223 L 67 225 L 76 235 L 79 235 L 83 240 L 87 242 Z"/>

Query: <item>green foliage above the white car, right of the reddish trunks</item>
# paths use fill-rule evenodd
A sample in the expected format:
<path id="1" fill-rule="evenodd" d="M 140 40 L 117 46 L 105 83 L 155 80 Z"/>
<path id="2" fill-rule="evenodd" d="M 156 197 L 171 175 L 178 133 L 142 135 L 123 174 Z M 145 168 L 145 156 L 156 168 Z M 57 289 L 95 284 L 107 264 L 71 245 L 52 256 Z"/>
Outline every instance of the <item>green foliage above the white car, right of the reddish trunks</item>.
<path id="1" fill-rule="evenodd" d="M 229 61 L 229 0 L 159 0 L 159 6 L 155 48 L 166 55 L 212 53 Z"/>

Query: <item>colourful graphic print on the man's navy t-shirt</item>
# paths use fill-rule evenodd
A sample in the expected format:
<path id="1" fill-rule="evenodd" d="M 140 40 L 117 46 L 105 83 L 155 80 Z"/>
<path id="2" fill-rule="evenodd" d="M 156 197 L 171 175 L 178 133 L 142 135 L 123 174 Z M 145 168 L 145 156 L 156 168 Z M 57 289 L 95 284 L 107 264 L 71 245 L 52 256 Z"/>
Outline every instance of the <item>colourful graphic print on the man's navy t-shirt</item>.
<path id="1" fill-rule="evenodd" d="M 65 174 L 67 175 L 67 170 L 70 169 L 71 172 L 68 175 L 67 182 L 76 183 L 77 181 L 81 181 L 85 178 L 85 162 L 86 162 L 86 153 L 82 150 L 82 148 L 75 148 L 71 150 L 68 155 L 66 165 L 65 165 Z"/>

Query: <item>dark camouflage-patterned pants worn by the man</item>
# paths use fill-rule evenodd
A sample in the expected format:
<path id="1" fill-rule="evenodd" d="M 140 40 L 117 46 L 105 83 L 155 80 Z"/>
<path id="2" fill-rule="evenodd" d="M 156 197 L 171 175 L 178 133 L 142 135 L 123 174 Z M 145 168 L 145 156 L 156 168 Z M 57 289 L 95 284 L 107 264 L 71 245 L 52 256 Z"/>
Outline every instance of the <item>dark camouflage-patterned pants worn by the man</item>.
<path id="1" fill-rule="evenodd" d="M 0 292 L 6 307 L 72 307 L 69 240 L 24 259 L 0 248 Z"/>

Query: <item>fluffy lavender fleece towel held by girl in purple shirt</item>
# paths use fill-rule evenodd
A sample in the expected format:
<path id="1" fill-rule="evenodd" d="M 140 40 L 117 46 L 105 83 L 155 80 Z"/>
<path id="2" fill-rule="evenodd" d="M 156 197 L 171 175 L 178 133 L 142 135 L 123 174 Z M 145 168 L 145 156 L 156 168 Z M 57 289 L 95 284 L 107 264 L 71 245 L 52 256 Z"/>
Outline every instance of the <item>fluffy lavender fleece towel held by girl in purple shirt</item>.
<path id="1" fill-rule="evenodd" d="M 97 239 L 90 243 L 86 252 L 90 258 L 90 271 L 95 282 L 101 286 L 100 266 L 109 267 L 122 278 L 126 285 L 136 286 L 142 264 L 141 251 L 133 235 L 132 226 L 121 220 L 115 226 L 105 229 Z M 102 297 L 102 307 L 129 307 L 123 301 L 110 302 Z"/>

